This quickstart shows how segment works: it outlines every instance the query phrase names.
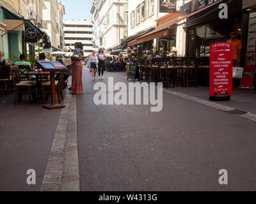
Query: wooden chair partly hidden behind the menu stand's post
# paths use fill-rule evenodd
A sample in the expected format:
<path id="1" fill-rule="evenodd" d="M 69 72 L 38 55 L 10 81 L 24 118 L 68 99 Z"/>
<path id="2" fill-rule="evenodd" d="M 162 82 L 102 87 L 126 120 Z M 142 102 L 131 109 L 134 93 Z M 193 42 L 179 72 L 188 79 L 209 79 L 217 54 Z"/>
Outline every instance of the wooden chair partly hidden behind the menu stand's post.
<path id="1" fill-rule="evenodd" d="M 61 71 L 58 81 L 55 81 L 55 89 L 57 92 L 59 103 L 61 103 L 61 101 L 64 99 L 63 89 L 62 89 L 63 77 L 64 77 L 64 73 Z M 45 103 L 45 99 L 48 100 L 49 94 L 51 94 L 51 82 L 50 81 L 42 84 L 42 98 L 43 98 L 44 103 Z"/>

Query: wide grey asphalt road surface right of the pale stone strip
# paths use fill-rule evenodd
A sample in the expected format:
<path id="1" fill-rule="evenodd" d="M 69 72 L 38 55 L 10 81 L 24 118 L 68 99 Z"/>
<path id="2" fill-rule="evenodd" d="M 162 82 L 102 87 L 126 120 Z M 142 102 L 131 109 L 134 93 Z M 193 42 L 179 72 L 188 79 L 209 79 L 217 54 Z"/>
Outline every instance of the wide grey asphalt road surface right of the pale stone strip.
<path id="1" fill-rule="evenodd" d="M 161 112 L 95 105 L 96 82 L 127 84 L 124 72 L 104 77 L 92 81 L 86 69 L 77 96 L 81 191 L 256 190 L 255 122 L 167 92 Z"/>

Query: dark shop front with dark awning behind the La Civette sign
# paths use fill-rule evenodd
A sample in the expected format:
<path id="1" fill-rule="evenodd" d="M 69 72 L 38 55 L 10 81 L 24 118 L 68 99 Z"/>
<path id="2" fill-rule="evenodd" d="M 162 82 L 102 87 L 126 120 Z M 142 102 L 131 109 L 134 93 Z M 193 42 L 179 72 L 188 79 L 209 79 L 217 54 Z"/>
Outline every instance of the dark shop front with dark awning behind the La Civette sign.
<path id="1" fill-rule="evenodd" d="M 199 1 L 199 0 L 198 0 Z M 201 2 L 201 1 L 199 1 Z M 221 1 L 227 3 L 228 18 L 219 18 L 219 4 L 200 11 L 187 18 L 186 55 L 190 57 L 209 57 L 212 43 L 230 39 L 230 32 L 236 31 L 241 40 L 242 4 L 239 0 Z M 198 4 L 199 6 L 200 4 Z M 204 7 L 200 6 L 201 9 Z"/>

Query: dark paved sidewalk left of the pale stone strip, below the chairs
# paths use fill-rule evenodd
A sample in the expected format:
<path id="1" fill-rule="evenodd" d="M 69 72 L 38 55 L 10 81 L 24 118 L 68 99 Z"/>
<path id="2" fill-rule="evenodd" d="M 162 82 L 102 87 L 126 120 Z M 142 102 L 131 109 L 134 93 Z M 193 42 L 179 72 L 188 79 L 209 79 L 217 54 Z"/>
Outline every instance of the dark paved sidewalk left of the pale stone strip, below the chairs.
<path id="1" fill-rule="evenodd" d="M 0 191 L 40 191 L 61 109 L 31 105 L 26 94 L 14 105 L 12 93 L 0 95 L 0 110 Z M 28 169 L 36 185 L 26 183 Z"/>

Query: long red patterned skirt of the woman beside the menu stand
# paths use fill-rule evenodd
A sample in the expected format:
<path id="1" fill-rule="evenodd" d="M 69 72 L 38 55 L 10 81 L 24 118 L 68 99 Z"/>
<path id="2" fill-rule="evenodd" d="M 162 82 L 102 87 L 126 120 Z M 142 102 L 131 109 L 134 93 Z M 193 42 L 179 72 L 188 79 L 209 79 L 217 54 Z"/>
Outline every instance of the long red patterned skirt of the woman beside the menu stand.
<path id="1" fill-rule="evenodd" d="M 72 94 L 83 93 L 82 73 L 82 61 L 75 61 L 72 68 Z"/>

